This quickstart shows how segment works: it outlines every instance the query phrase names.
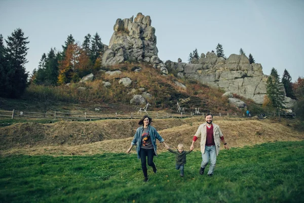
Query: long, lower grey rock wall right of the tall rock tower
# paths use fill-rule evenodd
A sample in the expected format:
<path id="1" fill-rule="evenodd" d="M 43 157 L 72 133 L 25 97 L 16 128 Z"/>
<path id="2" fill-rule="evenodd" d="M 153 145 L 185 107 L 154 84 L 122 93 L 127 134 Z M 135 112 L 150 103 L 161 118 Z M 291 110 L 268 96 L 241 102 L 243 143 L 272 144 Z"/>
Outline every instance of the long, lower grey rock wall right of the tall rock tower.
<path id="1" fill-rule="evenodd" d="M 203 84 L 236 93 L 262 104 L 266 94 L 267 75 L 263 75 L 259 63 L 249 63 L 245 54 L 231 54 L 229 58 L 217 57 L 215 53 L 201 54 L 193 63 L 166 61 L 169 73 L 177 77 L 197 80 Z"/>

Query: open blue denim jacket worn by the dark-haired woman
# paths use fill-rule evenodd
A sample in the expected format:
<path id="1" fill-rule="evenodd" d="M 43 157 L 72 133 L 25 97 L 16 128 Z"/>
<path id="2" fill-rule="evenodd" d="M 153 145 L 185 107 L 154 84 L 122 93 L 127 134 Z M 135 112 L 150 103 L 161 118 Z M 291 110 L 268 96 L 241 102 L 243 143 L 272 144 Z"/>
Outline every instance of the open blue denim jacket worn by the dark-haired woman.
<path id="1" fill-rule="evenodd" d="M 156 139 L 158 139 L 160 141 L 160 143 L 164 142 L 164 139 L 160 136 L 160 134 L 157 132 L 157 130 L 155 129 L 155 127 L 148 125 L 148 131 L 149 131 L 149 135 L 150 135 L 150 139 L 154 148 L 154 153 L 157 156 L 156 150 L 157 150 L 157 146 L 156 146 Z M 135 135 L 134 135 L 134 139 L 131 142 L 131 145 L 136 145 L 136 152 L 137 152 L 137 158 L 139 159 L 139 150 L 140 150 L 140 144 L 141 144 L 141 135 L 143 132 L 143 126 L 140 126 L 137 128 Z"/>

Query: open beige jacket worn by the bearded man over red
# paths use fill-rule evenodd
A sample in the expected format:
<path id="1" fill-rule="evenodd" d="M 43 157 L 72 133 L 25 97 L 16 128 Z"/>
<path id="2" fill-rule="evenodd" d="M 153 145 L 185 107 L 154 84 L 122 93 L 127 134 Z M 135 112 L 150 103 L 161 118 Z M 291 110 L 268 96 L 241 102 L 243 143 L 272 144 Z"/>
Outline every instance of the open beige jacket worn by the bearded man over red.
<path id="1" fill-rule="evenodd" d="M 194 136 L 200 137 L 201 136 L 201 152 L 202 154 L 205 153 L 205 144 L 206 144 L 206 139 L 207 139 L 207 123 L 203 123 L 199 126 L 198 131 L 195 133 Z M 218 155 L 219 152 L 219 147 L 220 147 L 220 138 L 223 137 L 222 132 L 219 129 L 219 126 L 212 123 L 213 125 L 213 138 L 214 138 L 214 143 L 215 143 L 215 148 L 216 148 L 216 156 Z"/>

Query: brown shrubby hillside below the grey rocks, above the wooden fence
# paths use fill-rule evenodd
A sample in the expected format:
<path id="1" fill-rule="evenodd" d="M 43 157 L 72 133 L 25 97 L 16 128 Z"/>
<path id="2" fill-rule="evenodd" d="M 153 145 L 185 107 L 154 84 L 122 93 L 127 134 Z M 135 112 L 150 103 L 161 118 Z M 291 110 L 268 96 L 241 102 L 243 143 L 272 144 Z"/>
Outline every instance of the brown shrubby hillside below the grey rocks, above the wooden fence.
<path id="1" fill-rule="evenodd" d="M 140 72 L 134 70 L 140 68 Z M 121 71 L 120 75 L 107 75 L 106 71 Z M 194 112 L 199 107 L 201 112 L 244 113 L 246 110 L 231 106 L 227 98 L 221 97 L 223 92 L 213 89 L 197 81 L 176 78 L 174 74 L 162 75 L 148 63 L 122 63 L 102 67 L 96 71 L 94 80 L 85 83 L 71 83 L 69 86 L 29 85 L 21 99 L 0 98 L 0 110 L 28 112 L 134 112 L 144 105 L 130 104 L 134 94 L 144 94 L 145 100 L 151 104 L 149 110 L 176 112 L 176 103 L 186 108 L 186 112 Z M 122 78 L 132 80 L 130 86 L 119 83 Z M 105 82 L 111 85 L 104 86 Z M 180 82 L 183 89 L 175 84 Z M 86 88 L 80 90 L 79 88 Z M 144 92 L 140 91 L 144 88 Z M 237 96 L 237 95 L 234 95 Z M 238 96 L 237 96 L 238 97 Z M 252 100 L 241 98 L 252 113 L 259 114 L 261 107 Z"/>

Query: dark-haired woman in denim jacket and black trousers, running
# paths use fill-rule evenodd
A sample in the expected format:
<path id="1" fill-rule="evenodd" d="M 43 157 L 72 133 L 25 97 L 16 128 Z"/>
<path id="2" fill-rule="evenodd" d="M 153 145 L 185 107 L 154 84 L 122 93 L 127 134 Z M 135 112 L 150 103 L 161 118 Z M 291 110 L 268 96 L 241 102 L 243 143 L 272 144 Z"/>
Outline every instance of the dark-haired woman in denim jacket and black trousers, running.
<path id="1" fill-rule="evenodd" d="M 164 142 L 164 139 L 160 136 L 155 127 L 150 125 L 151 122 L 152 119 L 147 115 L 143 116 L 139 120 L 138 124 L 141 126 L 137 128 L 134 139 L 131 142 L 131 146 L 127 150 L 127 153 L 129 153 L 132 147 L 136 145 L 137 157 L 141 160 L 144 182 L 148 181 L 146 157 L 148 157 L 148 165 L 153 168 L 153 172 L 155 174 L 157 172 L 156 165 L 153 162 L 154 155 L 157 156 L 156 139 L 158 139 L 160 143 L 164 143 L 165 146 L 167 146 L 167 144 Z"/>

